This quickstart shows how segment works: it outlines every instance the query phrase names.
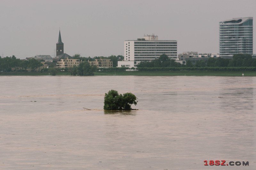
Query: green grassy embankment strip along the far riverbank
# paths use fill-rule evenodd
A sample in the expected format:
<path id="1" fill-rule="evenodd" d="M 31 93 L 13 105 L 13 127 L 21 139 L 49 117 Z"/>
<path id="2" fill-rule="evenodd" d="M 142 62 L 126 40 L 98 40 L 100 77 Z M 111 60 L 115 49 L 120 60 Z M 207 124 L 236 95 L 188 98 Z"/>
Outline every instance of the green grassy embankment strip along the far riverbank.
<path id="1" fill-rule="evenodd" d="M 256 71 L 97 71 L 95 76 L 256 76 Z M 48 76 L 49 72 L 0 72 L 0 76 Z M 70 76 L 58 71 L 56 76 Z"/>

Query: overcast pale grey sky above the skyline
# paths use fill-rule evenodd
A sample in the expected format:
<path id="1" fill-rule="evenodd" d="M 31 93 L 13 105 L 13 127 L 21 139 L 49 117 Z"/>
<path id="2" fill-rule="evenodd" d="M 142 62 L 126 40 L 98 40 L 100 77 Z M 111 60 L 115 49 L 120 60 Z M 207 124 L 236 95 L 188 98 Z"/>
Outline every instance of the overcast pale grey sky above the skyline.
<path id="1" fill-rule="evenodd" d="M 178 53 L 219 53 L 219 22 L 256 19 L 256 0 L 0 0 L 0 55 L 124 55 L 124 41 L 158 35 Z M 255 28 L 253 53 L 256 53 Z"/>

